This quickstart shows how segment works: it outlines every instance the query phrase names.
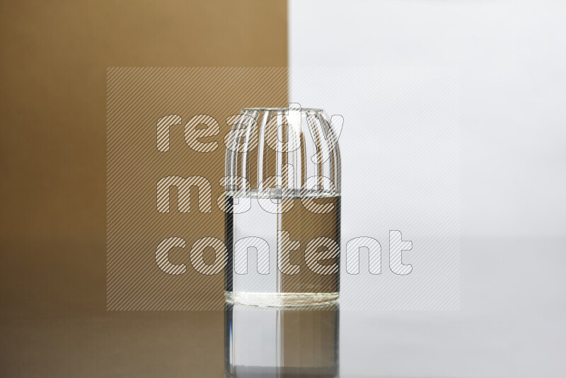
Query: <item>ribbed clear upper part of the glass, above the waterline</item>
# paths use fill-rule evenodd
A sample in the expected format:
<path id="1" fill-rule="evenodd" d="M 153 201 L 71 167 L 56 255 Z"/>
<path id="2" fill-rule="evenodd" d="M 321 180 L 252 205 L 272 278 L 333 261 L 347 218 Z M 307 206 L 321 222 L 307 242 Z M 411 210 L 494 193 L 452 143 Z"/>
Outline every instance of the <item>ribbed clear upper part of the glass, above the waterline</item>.
<path id="1" fill-rule="evenodd" d="M 289 193 L 317 183 L 340 193 L 340 149 L 323 110 L 247 108 L 229 122 L 226 176 L 246 178 L 251 190 Z"/>

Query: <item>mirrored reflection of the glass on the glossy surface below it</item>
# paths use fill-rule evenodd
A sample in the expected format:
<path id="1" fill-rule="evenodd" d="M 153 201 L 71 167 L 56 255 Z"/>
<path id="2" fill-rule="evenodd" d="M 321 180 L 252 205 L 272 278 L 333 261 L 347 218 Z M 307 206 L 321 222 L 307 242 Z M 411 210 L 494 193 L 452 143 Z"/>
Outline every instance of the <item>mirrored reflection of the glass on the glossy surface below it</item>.
<path id="1" fill-rule="evenodd" d="M 226 377 L 337 377 L 340 309 L 249 307 L 226 302 Z"/>

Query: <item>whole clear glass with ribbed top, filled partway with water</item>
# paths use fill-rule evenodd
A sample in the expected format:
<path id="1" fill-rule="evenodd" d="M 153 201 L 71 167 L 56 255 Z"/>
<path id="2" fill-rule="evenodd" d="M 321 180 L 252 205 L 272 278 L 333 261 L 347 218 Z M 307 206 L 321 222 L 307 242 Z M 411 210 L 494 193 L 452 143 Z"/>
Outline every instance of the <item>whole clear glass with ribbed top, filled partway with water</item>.
<path id="1" fill-rule="evenodd" d="M 226 299 L 261 306 L 334 301 L 342 123 L 298 104 L 246 108 L 228 122 Z"/>

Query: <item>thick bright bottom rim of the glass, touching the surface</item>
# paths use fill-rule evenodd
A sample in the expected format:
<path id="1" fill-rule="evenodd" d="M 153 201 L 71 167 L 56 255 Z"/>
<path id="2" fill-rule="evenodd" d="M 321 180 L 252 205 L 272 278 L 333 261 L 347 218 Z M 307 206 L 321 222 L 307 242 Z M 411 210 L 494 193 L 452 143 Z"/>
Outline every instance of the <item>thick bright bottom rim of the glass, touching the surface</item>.
<path id="1" fill-rule="evenodd" d="M 226 301 L 259 307 L 300 307 L 337 301 L 338 292 L 224 292 Z"/>

